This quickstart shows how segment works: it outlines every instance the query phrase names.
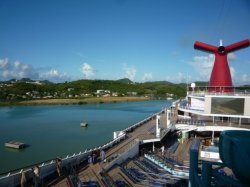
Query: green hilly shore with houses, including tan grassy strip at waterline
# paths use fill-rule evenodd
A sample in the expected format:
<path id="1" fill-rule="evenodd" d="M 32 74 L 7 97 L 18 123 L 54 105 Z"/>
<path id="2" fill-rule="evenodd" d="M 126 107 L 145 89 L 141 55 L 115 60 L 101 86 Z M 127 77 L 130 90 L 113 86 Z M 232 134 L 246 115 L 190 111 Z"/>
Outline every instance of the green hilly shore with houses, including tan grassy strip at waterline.
<path id="1" fill-rule="evenodd" d="M 136 83 L 120 80 L 77 80 L 64 83 L 28 78 L 0 82 L 0 105 L 54 105 L 176 99 L 185 84 L 167 81 Z"/>

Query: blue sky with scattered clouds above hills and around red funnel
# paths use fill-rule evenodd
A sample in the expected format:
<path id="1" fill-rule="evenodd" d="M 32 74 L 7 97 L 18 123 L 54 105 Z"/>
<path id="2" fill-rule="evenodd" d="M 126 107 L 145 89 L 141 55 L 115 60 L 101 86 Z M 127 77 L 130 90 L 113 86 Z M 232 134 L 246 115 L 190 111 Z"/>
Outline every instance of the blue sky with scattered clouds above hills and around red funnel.
<path id="1" fill-rule="evenodd" d="M 1 0 L 0 80 L 130 78 L 208 81 L 213 55 L 195 41 L 250 38 L 248 0 Z M 250 47 L 228 57 L 250 83 Z"/>

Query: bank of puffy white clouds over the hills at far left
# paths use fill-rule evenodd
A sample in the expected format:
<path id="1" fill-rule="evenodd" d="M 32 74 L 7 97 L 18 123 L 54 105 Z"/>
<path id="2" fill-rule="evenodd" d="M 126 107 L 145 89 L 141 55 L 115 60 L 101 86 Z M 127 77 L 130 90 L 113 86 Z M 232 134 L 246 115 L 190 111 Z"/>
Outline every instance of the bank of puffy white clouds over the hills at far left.
<path id="1" fill-rule="evenodd" d="M 46 69 L 38 70 L 31 65 L 20 61 L 10 62 L 7 58 L 0 59 L 0 80 L 9 79 L 46 79 L 50 81 L 62 82 L 68 80 L 65 73 L 59 73 L 58 70 Z"/>

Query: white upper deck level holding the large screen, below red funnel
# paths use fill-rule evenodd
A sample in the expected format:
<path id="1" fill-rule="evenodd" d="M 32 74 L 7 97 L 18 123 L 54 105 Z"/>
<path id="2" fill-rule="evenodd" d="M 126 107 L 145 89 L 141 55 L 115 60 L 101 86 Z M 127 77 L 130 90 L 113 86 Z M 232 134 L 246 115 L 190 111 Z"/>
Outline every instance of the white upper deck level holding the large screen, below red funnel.
<path id="1" fill-rule="evenodd" d="M 249 89 L 230 87 L 231 92 L 214 92 L 210 89 L 189 89 L 186 98 L 178 104 L 179 110 L 202 116 L 250 118 Z"/>

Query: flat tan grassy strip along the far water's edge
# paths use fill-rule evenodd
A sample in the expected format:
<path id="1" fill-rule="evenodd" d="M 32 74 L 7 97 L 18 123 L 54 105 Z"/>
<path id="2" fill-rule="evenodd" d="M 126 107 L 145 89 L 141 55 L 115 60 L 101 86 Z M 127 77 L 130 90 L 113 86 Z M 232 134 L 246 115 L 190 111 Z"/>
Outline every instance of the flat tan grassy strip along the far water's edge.
<path id="1" fill-rule="evenodd" d="M 84 105 L 148 100 L 151 99 L 147 97 L 89 97 L 83 99 L 37 99 L 20 102 L 1 102 L 0 106 Z"/>

